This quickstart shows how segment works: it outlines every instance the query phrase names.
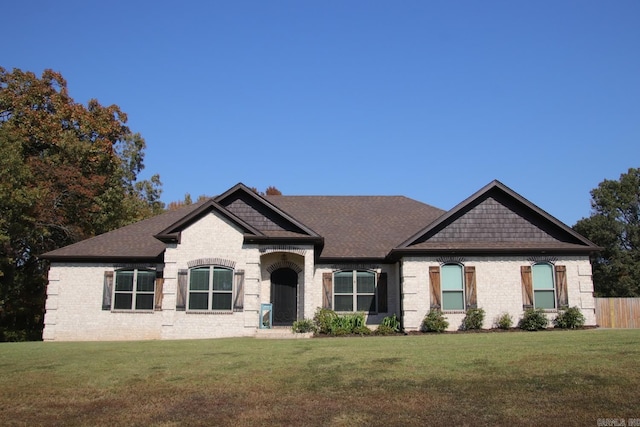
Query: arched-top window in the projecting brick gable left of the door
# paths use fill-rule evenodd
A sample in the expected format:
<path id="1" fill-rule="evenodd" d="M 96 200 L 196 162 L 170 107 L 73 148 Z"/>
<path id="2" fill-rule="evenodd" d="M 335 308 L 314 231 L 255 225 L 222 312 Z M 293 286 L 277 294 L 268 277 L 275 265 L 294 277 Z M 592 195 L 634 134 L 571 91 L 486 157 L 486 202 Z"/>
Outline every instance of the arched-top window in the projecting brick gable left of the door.
<path id="1" fill-rule="evenodd" d="M 231 310 L 233 270 L 207 266 L 189 273 L 189 310 Z"/>

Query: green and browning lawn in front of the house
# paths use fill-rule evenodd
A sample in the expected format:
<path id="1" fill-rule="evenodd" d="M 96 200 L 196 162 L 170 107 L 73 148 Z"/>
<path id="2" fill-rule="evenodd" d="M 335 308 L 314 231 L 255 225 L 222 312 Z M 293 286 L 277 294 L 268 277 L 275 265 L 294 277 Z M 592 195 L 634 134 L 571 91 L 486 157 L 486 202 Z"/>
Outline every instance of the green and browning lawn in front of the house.
<path id="1" fill-rule="evenodd" d="M 0 345 L 3 425 L 596 425 L 640 330 Z"/>

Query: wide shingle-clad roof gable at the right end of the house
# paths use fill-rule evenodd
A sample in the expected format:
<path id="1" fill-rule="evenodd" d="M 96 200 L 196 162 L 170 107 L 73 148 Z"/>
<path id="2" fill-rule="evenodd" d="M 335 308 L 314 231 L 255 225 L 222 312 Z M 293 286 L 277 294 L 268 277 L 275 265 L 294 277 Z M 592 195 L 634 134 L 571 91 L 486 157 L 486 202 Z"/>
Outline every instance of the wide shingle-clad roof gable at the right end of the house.
<path id="1" fill-rule="evenodd" d="M 398 249 L 593 251 L 598 247 L 499 181 L 492 181 Z"/>

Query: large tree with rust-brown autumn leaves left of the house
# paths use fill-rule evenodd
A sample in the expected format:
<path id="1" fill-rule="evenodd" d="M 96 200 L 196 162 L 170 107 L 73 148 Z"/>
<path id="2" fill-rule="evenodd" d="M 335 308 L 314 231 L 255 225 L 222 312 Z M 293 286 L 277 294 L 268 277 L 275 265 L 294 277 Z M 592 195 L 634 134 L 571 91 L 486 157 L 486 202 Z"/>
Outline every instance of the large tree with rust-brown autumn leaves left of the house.
<path id="1" fill-rule="evenodd" d="M 163 210 L 159 176 L 137 180 L 145 142 L 126 121 L 76 103 L 57 72 L 0 67 L 0 340 L 41 337 L 40 254 Z"/>

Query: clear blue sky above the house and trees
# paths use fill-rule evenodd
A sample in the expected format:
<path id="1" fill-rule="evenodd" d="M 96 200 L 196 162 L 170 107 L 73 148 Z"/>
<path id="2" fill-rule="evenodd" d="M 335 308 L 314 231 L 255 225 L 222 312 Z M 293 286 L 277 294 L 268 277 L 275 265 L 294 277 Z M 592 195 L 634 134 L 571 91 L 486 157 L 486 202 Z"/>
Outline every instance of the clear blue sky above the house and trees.
<path id="1" fill-rule="evenodd" d="M 573 225 L 640 167 L 639 1 L 33 1 L 0 65 L 117 104 L 163 200 L 238 182 L 449 209 L 493 179 Z"/>

